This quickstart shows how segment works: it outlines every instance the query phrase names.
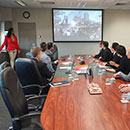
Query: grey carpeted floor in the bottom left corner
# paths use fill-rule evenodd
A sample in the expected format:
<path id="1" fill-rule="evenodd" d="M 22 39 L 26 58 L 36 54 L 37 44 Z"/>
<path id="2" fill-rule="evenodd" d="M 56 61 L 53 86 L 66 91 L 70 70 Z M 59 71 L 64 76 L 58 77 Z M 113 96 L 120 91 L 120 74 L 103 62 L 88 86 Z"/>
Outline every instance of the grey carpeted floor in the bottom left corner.
<path id="1" fill-rule="evenodd" d="M 11 126 L 11 118 L 0 93 L 0 130 L 8 130 Z"/>

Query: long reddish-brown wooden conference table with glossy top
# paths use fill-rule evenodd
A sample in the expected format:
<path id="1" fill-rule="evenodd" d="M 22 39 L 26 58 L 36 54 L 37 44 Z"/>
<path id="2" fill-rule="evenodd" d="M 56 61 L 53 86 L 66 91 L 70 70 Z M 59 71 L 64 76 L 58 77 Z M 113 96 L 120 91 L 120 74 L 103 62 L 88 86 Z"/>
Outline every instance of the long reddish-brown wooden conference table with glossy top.
<path id="1" fill-rule="evenodd" d="M 74 58 L 79 64 L 78 56 Z M 90 65 L 95 61 L 85 55 L 84 60 Z M 59 61 L 53 82 L 68 80 L 65 70 L 59 68 L 66 61 Z M 96 62 L 102 64 L 97 59 Z M 87 78 L 79 76 L 79 80 L 72 81 L 71 85 L 50 87 L 41 113 L 42 127 L 45 130 L 130 130 L 130 103 L 121 103 L 122 93 L 118 89 L 120 84 L 128 82 L 116 79 L 115 83 L 106 85 L 106 78 L 112 75 L 105 72 Z M 97 83 L 103 93 L 91 95 L 88 91 L 91 82 Z"/>

